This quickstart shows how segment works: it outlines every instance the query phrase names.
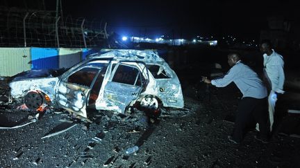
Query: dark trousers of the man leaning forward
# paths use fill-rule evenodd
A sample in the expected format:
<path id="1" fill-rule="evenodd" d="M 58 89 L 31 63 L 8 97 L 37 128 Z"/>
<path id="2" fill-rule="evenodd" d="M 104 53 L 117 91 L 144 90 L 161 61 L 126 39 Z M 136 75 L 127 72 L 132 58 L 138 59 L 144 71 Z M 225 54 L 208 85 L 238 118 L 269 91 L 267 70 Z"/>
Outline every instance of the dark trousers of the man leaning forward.
<path id="1" fill-rule="evenodd" d="M 269 137 L 267 97 L 256 99 L 243 97 L 238 104 L 235 114 L 235 125 L 233 129 L 233 140 L 241 142 L 244 138 L 244 129 L 250 121 L 255 120 L 259 124 L 260 137 Z"/>

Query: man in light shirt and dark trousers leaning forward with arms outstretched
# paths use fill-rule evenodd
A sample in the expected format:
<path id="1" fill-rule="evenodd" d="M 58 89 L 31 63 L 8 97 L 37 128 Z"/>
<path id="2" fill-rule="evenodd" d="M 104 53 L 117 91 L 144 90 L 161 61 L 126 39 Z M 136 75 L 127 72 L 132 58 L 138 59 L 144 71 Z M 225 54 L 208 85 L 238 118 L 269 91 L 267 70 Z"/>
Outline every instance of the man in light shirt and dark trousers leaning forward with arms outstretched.
<path id="1" fill-rule="evenodd" d="M 267 88 L 258 75 L 249 66 L 240 61 L 238 53 L 228 55 L 228 64 L 231 69 L 222 78 L 208 80 L 203 77 L 206 84 L 224 87 L 234 82 L 242 92 L 242 100 L 238 105 L 235 115 L 235 125 L 232 136 L 228 139 L 234 143 L 242 142 L 244 129 L 249 121 L 254 118 L 259 123 L 260 132 L 255 138 L 261 142 L 267 142 L 269 138 L 269 126 L 267 124 Z"/>

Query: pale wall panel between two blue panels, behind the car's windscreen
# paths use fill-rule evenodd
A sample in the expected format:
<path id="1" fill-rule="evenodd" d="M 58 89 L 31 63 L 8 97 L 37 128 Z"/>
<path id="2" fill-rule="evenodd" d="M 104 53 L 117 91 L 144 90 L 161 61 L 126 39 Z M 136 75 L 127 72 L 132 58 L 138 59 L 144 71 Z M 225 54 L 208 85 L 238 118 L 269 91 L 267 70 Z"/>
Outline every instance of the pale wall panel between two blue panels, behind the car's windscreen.
<path id="1" fill-rule="evenodd" d="M 69 68 L 81 62 L 80 48 L 59 48 L 59 68 Z"/>

